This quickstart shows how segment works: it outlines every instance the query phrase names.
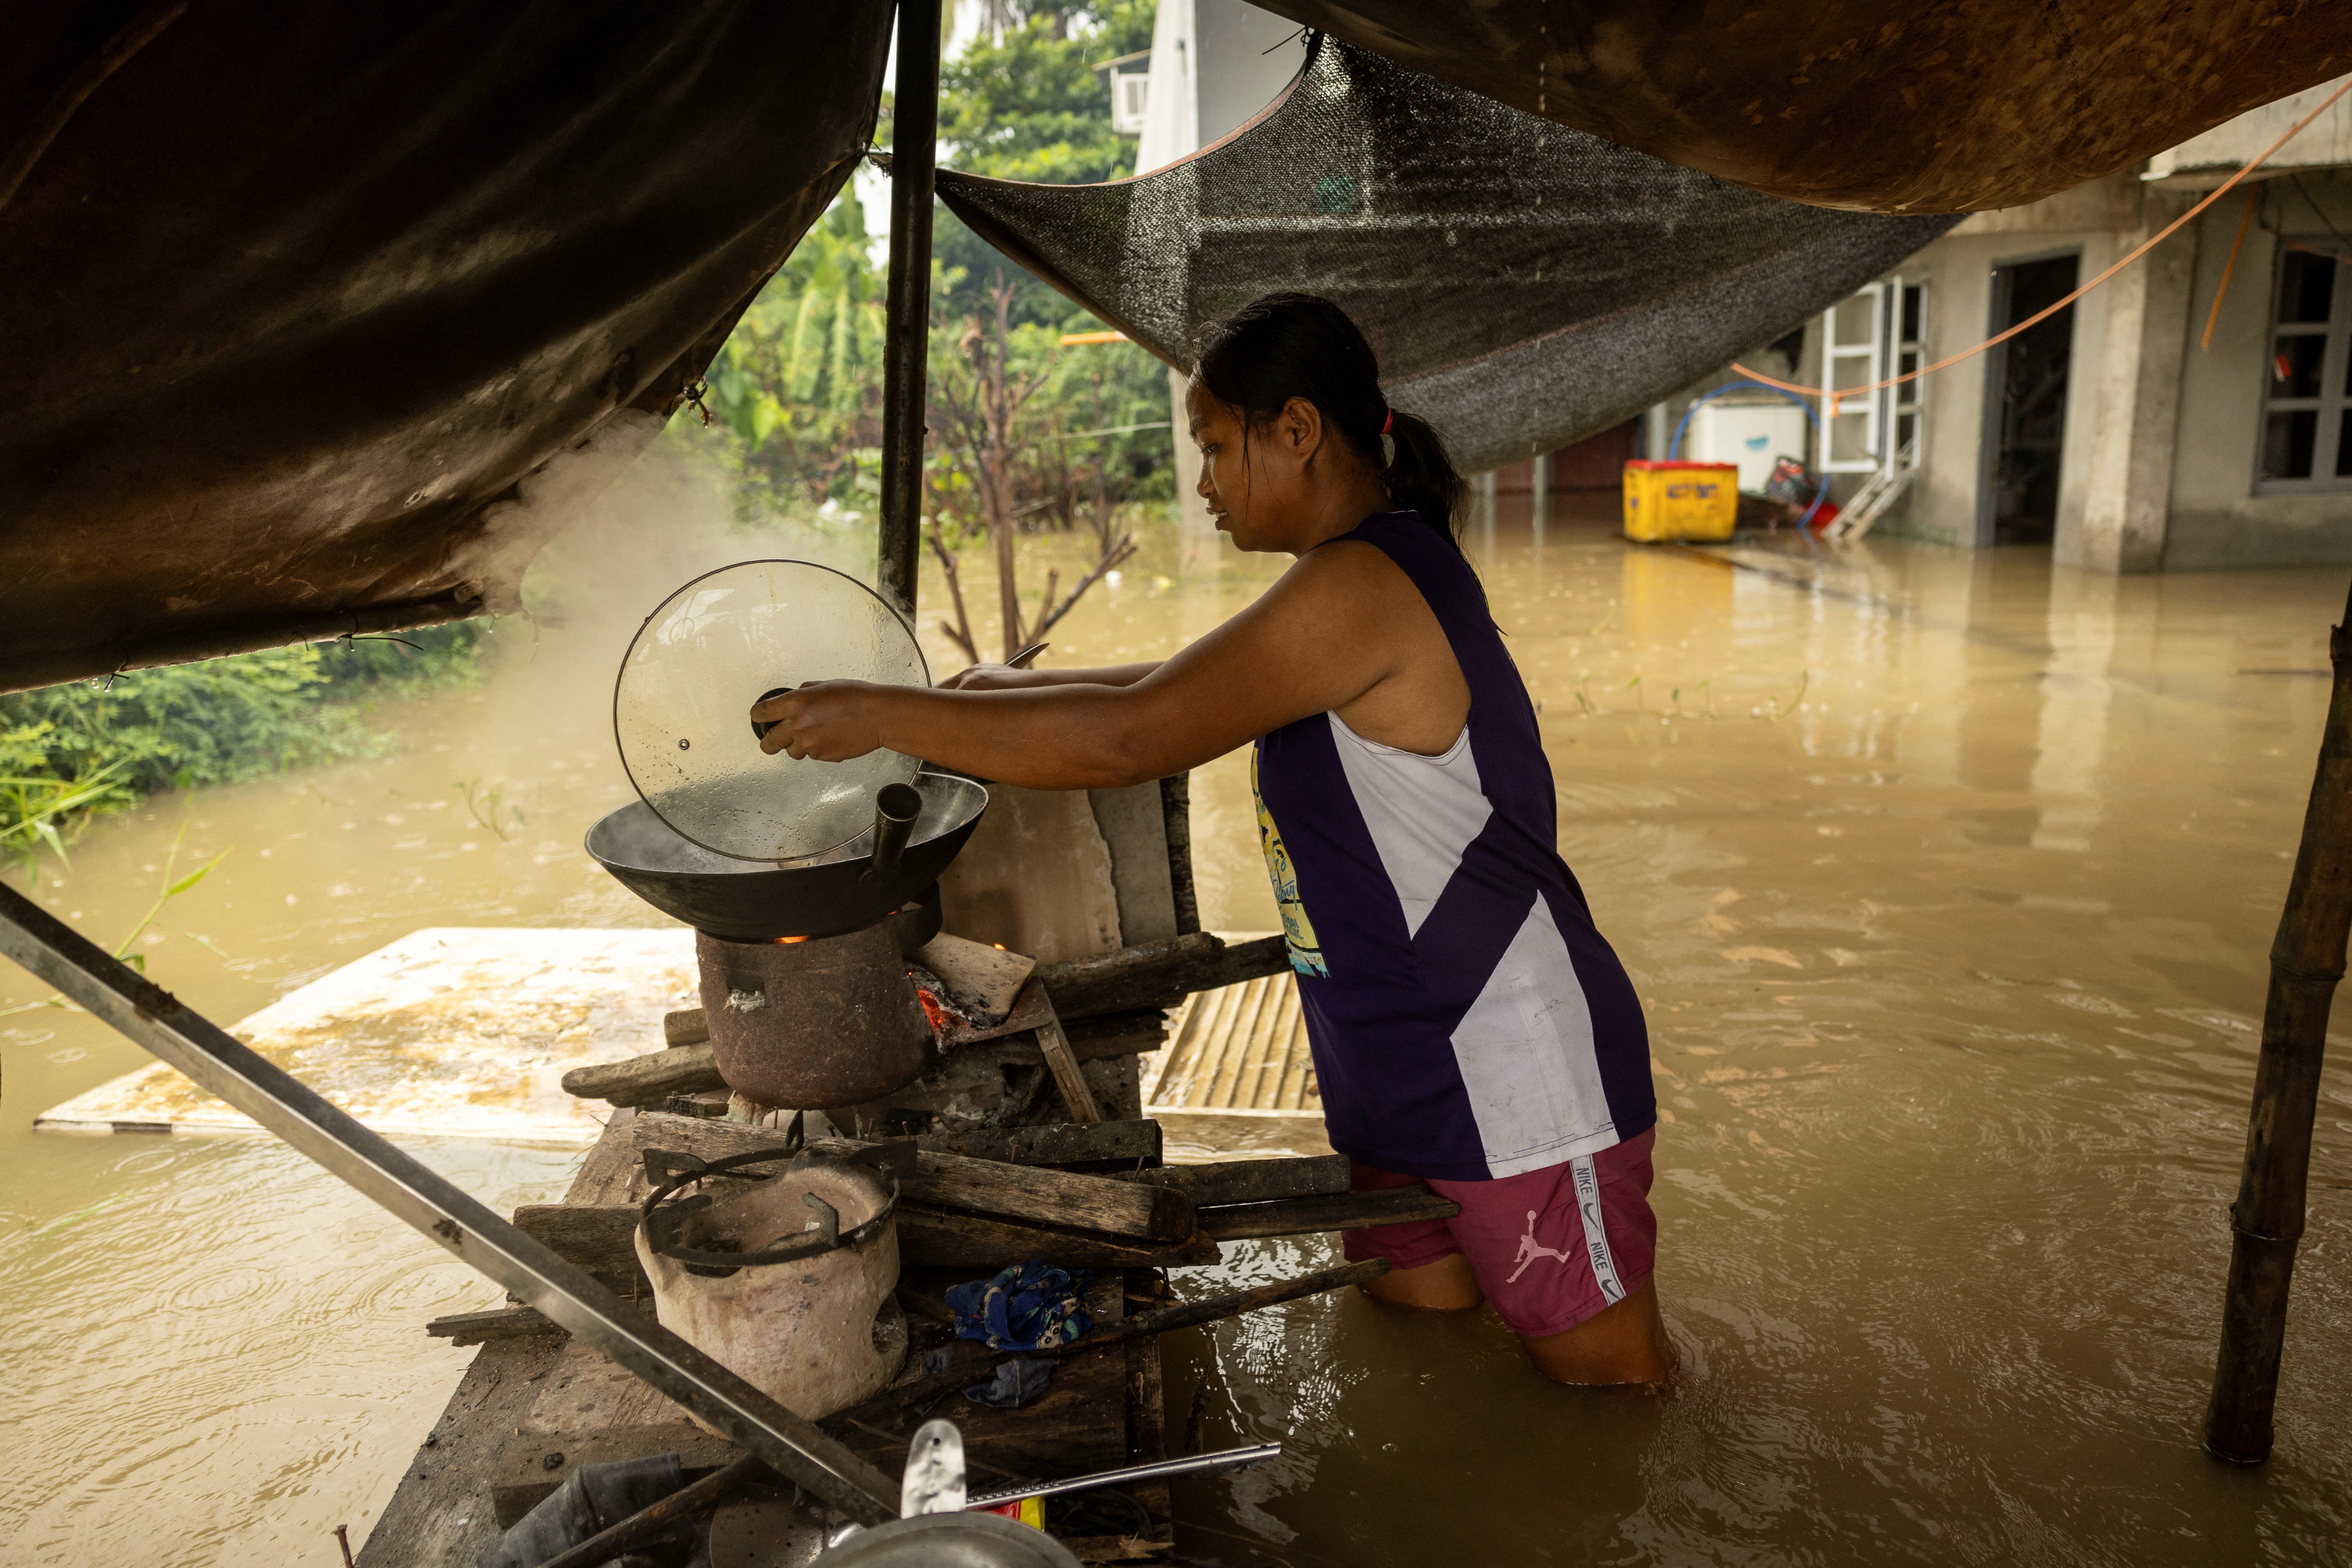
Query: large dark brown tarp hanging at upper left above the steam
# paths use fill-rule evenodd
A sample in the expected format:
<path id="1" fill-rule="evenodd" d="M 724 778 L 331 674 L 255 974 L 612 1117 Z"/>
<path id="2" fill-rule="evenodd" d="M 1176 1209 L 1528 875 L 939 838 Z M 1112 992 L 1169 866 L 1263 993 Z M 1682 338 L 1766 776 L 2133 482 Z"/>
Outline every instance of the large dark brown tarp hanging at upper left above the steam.
<path id="1" fill-rule="evenodd" d="M 840 190 L 889 31 L 0 0 L 0 689 L 496 604 Z"/>

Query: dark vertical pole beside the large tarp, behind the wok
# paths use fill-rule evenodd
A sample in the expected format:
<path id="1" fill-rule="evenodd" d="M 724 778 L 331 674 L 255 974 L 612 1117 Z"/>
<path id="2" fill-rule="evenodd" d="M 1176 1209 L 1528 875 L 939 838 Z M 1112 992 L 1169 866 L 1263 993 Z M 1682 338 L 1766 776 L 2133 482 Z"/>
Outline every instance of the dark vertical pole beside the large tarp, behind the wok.
<path id="1" fill-rule="evenodd" d="M 931 353 L 931 165 L 938 143 L 938 0 L 898 0 L 889 155 L 889 301 L 882 348 L 882 597 L 915 618 L 922 550 L 922 404 Z"/>

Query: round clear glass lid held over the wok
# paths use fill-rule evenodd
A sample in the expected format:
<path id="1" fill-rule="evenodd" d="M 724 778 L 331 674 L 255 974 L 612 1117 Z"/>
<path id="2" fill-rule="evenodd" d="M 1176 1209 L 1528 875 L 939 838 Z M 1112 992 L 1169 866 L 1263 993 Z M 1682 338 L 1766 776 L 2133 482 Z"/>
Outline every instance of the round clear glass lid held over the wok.
<path id="1" fill-rule="evenodd" d="M 870 588 L 814 562 L 703 574 L 644 618 L 621 658 L 612 729 L 644 804 L 736 860 L 802 860 L 873 827 L 875 792 L 915 757 L 795 762 L 760 750 L 750 705 L 818 679 L 931 684 L 915 632 Z"/>

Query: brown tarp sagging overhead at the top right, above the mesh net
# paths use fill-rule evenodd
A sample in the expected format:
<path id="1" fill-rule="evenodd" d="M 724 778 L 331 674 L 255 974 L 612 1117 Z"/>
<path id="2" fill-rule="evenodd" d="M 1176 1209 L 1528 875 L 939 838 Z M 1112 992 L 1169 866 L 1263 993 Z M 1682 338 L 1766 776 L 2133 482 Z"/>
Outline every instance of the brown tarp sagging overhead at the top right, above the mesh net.
<path id="1" fill-rule="evenodd" d="M 2018 207 L 2352 71 L 2343 0 L 1254 0 L 1823 207 Z"/>

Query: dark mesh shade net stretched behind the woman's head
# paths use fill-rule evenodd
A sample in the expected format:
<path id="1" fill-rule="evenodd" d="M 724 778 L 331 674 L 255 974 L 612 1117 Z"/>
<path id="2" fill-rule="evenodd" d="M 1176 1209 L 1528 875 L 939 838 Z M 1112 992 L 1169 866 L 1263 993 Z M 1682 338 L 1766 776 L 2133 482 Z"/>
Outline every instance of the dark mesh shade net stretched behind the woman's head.
<path id="1" fill-rule="evenodd" d="M 1465 473 L 1630 418 L 1959 221 L 1726 186 L 1331 38 L 1183 162 L 1101 186 L 941 169 L 938 193 L 1178 369 L 1258 294 L 1336 301 Z"/>

